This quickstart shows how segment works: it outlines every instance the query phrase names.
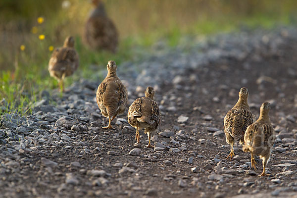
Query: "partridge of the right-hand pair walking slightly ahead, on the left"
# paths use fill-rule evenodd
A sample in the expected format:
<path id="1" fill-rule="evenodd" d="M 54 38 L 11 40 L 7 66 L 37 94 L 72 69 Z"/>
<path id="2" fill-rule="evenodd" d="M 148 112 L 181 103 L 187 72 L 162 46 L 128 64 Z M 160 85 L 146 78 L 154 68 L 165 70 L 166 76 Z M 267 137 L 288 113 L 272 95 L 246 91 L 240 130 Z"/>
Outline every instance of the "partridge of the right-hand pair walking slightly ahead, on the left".
<path id="1" fill-rule="evenodd" d="M 248 91 L 247 88 L 241 88 L 239 99 L 235 106 L 229 110 L 224 118 L 224 132 L 226 142 L 231 145 L 231 152 L 227 156 L 232 159 L 234 156 L 233 145 L 238 142 L 241 145 L 244 143 L 244 136 L 247 127 L 255 121 L 255 116 L 250 112 L 247 103 Z"/>

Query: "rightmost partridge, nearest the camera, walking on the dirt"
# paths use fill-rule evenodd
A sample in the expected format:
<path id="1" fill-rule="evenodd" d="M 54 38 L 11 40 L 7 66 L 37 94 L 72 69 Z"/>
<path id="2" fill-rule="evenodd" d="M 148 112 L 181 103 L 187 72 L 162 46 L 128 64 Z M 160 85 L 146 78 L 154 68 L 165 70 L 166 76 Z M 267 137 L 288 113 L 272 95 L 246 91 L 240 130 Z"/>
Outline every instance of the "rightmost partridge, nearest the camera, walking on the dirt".
<path id="1" fill-rule="evenodd" d="M 266 165 L 269 161 L 271 148 L 275 142 L 275 132 L 269 118 L 270 103 L 264 102 L 260 107 L 258 120 L 247 127 L 245 134 L 245 145 L 243 150 L 250 152 L 251 167 L 256 169 L 254 155 L 262 158 L 263 172 L 259 176 L 268 175 L 265 173 Z"/>

